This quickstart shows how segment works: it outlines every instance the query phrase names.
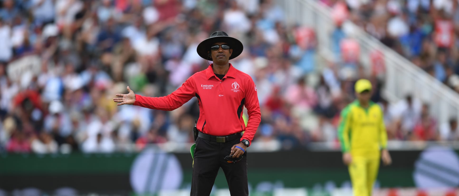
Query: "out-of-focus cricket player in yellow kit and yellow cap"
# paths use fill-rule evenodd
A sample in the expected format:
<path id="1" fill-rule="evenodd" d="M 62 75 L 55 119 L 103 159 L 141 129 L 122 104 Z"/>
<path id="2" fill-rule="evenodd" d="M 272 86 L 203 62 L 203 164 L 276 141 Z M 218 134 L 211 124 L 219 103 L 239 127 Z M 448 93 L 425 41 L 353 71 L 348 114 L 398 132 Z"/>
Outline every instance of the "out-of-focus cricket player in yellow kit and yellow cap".
<path id="1" fill-rule="evenodd" d="M 341 111 L 338 134 L 354 196 L 371 196 L 380 157 L 386 165 L 392 160 L 386 149 L 383 112 L 378 104 L 370 101 L 371 83 L 367 79 L 359 79 L 354 88 L 357 100 Z"/>

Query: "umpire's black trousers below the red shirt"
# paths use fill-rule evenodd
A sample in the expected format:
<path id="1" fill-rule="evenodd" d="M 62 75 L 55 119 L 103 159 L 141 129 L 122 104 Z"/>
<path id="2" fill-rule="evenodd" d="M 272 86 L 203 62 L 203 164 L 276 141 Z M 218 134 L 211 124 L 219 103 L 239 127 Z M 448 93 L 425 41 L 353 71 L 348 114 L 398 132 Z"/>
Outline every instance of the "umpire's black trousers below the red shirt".
<path id="1" fill-rule="evenodd" d="M 231 147 L 240 143 L 240 138 L 226 143 L 211 142 L 203 138 L 196 139 L 196 148 L 191 181 L 190 196 L 208 196 L 220 167 L 223 169 L 231 196 L 248 196 L 247 152 L 241 161 L 228 163 L 224 159 L 231 153 Z"/>

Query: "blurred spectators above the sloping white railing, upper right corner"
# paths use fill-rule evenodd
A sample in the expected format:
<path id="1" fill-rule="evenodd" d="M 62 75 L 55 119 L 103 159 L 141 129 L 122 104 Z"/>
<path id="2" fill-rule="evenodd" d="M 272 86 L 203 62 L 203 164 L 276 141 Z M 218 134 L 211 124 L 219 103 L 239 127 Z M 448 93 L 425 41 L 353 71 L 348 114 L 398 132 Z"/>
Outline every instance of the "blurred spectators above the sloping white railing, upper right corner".
<path id="1" fill-rule="evenodd" d="M 332 7 L 341 39 L 345 20 L 459 92 L 458 0 L 319 0 Z"/>

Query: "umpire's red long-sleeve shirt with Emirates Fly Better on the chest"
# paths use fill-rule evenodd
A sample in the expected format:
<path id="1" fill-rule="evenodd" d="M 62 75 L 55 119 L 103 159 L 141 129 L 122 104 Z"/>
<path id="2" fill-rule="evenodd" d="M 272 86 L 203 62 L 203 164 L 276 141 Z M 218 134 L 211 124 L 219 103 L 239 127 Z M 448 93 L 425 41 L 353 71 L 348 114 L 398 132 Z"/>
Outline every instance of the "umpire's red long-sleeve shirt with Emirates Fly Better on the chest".
<path id="1" fill-rule="evenodd" d="M 163 97 L 135 95 L 135 106 L 171 111 L 179 108 L 193 97 L 199 103 L 199 131 L 226 136 L 244 132 L 242 139 L 252 143 L 253 136 L 261 121 L 257 87 L 253 79 L 229 64 L 228 73 L 219 79 L 213 73 L 213 64 L 207 69 L 193 74 L 179 89 Z M 242 118 L 246 106 L 249 120 L 247 127 Z"/>

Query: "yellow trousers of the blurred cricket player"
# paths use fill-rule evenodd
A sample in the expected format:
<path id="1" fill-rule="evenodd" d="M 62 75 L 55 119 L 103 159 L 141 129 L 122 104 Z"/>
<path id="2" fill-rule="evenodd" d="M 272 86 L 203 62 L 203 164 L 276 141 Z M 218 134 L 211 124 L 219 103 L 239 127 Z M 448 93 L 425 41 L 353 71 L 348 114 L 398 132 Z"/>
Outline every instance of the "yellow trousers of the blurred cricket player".
<path id="1" fill-rule="evenodd" d="M 379 169 L 379 157 L 353 156 L 349 165 L 354 196 L 371 196 Z"/>

